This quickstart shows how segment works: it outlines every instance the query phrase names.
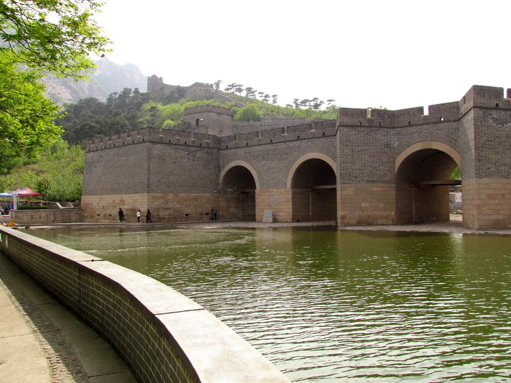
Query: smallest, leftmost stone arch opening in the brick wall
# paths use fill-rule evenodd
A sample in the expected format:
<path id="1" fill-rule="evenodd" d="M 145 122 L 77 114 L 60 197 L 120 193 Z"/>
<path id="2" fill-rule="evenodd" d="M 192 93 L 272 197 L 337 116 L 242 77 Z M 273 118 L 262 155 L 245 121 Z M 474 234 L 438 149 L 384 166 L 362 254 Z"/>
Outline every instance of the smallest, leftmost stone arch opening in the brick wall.
<path id="1" fill-rule="evenodd" d="M 222 172 L 220 211 L 222 219 L 255 220 L 255 190 L 258 181 L 248 167 L 235 164 Z"/>

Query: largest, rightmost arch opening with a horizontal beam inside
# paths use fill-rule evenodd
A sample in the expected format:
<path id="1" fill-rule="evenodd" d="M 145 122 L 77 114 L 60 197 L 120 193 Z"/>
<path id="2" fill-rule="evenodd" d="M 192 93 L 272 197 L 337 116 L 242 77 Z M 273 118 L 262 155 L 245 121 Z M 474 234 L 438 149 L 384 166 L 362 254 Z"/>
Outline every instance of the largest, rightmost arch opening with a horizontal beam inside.
<path id="1" fill-rule="evenodd" d="M 442 149 L 408 149 L 396 161 L 396 224 L 449 221 L 449 188 L 459 183 L 449 176 L 459 165 L 459 155 L 452 148 Z"/>

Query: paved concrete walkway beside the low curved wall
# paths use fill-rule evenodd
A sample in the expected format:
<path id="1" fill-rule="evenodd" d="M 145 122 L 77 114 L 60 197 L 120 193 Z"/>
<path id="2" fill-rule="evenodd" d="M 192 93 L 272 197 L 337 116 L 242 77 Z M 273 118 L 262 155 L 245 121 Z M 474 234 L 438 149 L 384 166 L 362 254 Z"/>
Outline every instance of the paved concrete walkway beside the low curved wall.
<path id="1" fill-rule="evenodd" d="M 0 382 L 136 382 L 110 345 L 2 253 L 0 313 Z"/>

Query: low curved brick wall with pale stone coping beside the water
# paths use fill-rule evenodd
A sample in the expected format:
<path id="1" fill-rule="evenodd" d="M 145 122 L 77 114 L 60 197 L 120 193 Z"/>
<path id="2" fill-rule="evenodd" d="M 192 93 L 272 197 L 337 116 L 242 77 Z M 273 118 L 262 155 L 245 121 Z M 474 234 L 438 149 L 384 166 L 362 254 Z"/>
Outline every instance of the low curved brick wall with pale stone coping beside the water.
<path id="1" fill-rule="evenodd" d="M 192 300 L 101 258 L 0 228 L 0 250 L 94 328 L 147 383 L 289 382 Z"/>

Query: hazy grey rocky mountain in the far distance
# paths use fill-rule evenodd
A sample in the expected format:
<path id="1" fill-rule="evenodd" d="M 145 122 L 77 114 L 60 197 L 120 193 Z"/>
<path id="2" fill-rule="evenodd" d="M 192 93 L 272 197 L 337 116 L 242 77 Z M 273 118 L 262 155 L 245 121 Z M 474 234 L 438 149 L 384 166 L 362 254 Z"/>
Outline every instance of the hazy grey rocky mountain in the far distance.
<path id="1" fill-rule="evenodd" d="M 97 69 L 89 75 L 90 80 L 73 81 L 53 75 L 44 78 L 46 94 L 57 104 L 76 104 L 81 99 L 96 98 L 105 101 L 110 93 L 120 92 L 124 88 L 138 88 L 145 92 L 147 76 L 134 64 L 116 64 L 107 58 L 95 62 Z"/>

